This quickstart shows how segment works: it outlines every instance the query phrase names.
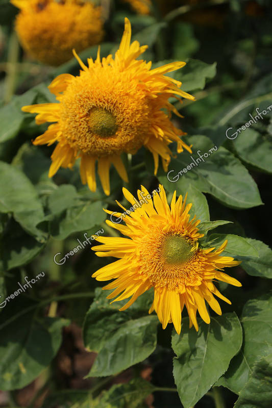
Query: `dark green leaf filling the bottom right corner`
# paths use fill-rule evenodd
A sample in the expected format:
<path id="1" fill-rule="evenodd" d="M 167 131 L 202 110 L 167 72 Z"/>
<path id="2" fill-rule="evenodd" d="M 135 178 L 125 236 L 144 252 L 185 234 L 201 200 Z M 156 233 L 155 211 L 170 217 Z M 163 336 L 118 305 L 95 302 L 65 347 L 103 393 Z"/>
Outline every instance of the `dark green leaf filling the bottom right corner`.
<path id="1" fill-rule="evenodd" d="M 270 408 L 272 401 L 272 354 L 261 358 L 241 390 L 234 408 Z"/>

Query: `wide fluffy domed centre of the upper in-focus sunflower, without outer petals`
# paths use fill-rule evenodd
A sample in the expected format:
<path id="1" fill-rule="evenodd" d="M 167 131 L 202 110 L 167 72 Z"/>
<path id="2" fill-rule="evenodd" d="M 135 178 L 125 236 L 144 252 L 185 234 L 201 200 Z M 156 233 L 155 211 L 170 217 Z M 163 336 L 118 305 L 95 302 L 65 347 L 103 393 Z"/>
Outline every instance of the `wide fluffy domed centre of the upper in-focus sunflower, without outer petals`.
<path id="1" fill-rule="evenodd" d="M 133 153 L 149 133 L 154 103 L 127 71 L 104 65 L 81 72 L 59 99 L 61 129 L 69 145 L 87 155 Z"/>

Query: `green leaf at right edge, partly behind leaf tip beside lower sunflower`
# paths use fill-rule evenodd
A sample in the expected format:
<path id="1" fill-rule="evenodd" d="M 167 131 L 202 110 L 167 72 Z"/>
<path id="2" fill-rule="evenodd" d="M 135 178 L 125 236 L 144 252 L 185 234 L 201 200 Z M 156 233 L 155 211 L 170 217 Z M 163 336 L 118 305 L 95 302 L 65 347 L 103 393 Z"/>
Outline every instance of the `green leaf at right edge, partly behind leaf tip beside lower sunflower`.
<path id="1" fill-rule="evenodd" d="M 272 278 L 272 250 L 268 245 L 257 239 L 245 238 L 259 253 L 259 258 L 239 257 L 241 267 L 252 276 Z"/>

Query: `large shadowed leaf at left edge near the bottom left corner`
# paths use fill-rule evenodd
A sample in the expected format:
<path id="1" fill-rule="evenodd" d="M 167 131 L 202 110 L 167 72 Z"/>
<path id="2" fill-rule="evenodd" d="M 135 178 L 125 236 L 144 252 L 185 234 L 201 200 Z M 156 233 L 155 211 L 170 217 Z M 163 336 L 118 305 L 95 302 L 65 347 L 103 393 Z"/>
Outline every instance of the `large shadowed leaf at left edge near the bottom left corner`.
<path id="1" fill-rule="evenodd" d="M 18 306 L 20 301 L 11 300 L 18 302 Z M 3 391 L 25 387 L 51 363 L 61 345 L 62 327 L 69 323 L 49 317 L 37 321 L 35 311 L 21 316 L 18 310 L 13 313 L 10 302 L 6 308 L 8 312 L 5 310 L 0 315 L 0 388 Z"/>

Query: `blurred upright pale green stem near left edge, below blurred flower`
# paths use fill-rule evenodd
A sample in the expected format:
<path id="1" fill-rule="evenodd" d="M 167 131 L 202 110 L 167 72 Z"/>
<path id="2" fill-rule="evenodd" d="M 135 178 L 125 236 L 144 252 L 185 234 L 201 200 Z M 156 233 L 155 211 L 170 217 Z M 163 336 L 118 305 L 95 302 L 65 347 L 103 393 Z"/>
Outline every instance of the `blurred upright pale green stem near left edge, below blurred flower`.
<path id="1" fill-rule="evenodd" d="M 16 87 L 17 61 L 19 58 L 19 42 L 15 31 L 9 40 L 7 75 L 5 79 L 4 103 L 8 104 Z"/>

